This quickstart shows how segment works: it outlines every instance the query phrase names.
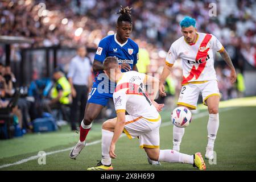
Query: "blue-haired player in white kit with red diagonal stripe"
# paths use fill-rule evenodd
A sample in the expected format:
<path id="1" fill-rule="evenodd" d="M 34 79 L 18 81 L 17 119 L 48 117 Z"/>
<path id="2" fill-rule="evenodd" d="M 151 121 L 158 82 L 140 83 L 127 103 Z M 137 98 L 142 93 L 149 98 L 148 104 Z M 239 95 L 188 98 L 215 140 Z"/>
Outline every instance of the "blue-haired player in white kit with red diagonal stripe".
<path id="1" fill-rule="evenodd" d="M 197 32 L 196 20 L 186 16 L 180 22 L 183 36 L 172 43 L 166 57 L 166 65 L 159 83 L 159 93 L 166 96 L 164 92 L 164 81 L 170 74 L 172 65 L 177 59 L 181 59 L 183 67 L 182 88 L 177 102 L 178 106 L 185 106 L 188 109 L 196 109 L 200 92 L 203 96 L 204 105 L 208 106 L 209 121 L 208 144 L 205 158 L 213 159 L 214 140 L 216 139 L 219 118 L 218 104 L 220 93 L 218 91 L 216 72 L 214 70 L 214 52 L 220 52 L 222 58 L 231 69 L 230 82 L 236 81 L 236 71 L 225 48 L 212 34 Z M 180 150 L 181 139 L 184 135 L 184 128 L 174 126 L 174 150 Z"/>

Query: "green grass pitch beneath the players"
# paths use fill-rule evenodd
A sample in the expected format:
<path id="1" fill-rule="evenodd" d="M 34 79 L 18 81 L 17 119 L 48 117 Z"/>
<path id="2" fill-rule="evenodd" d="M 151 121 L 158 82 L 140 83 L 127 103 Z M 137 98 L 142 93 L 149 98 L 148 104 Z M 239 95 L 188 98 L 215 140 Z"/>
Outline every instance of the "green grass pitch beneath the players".
<path id="1" fill-rule="evenodd" d="M 207 144 L 208 113 L 205 106 L 193 114 L 191 125 L 185 129 L 180 152 L 205 154 Z M 168 108 L 162 111 L 160 127 L 160 148 L 172 148 L 172 125 Z M 93 123 L 87 143 L 101 139 L 101 124 Z M 54 133 L 27 134 L 11 140 L 0 140 L 0 170 L 86 170 L 95 166 L 101 159 L 101 142 L 86 146 L 76 160 L 69 159 L 69 150 L 79 134 L 69 131 L 69 126 Z M 58 152 L 59 150 L 64 150 Z M 20 162 L 36 156 L 39 151 L 53 152 L 46 156 L 46 164 L 39 165 L 38 159 Z M 216 164 L 209 164 L 207 170 L 256 170 L 256 97 L 240 98 L 220 104 L 220 127 L 215 142 Z M 139 148 L 138 139 L 129 140 L 126 136 L 118 140 L 115 152 L 117 159 L 112 160 L 115 170 L 196 170 L 189 164 L 170 164 L 161 166 L 147 163 L 144 150 Z M 13 164 L 3 167 L 6 164 Z"/>

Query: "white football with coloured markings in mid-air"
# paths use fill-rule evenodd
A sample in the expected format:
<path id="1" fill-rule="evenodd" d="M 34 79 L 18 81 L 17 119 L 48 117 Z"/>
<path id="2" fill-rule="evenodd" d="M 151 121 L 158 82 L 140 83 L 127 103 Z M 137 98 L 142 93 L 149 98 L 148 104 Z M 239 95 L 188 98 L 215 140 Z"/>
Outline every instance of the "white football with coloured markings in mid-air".
<path id="1" fill-rule="evenodd" d="M 176 107 L 171 114 L 171 122 L 177 127 L 187 127 L 191 123 L 192 114 L 186 107 Z"/>

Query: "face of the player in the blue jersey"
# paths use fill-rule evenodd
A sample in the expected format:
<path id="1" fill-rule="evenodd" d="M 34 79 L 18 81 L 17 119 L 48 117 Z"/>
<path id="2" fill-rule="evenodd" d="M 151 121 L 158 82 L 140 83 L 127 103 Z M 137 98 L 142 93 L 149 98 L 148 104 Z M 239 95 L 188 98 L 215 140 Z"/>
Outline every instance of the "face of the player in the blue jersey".
<path id="1" fill-rule="evenodd" d="M 132 29 L 133 29 L 133 26 L 130 22 L 118 23 L 117 24 L 117 36 L 119 38 L 118 41 L 121 41 L 121 43 L 125 43 L 127 39 L 129 39 Z"/>

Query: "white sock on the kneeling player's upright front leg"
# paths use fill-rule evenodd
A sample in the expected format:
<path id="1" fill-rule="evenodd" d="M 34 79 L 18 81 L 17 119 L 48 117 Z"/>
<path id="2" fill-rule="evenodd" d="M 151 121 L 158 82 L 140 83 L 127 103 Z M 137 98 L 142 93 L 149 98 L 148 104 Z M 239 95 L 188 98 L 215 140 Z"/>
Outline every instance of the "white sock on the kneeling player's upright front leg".
<path id="1" fill-rule="evenodd" d="M 108 166 L 108 165 L 111 164 L 111 158 L 109 156 L 109 148 L 110 148 L 110 143 L 112 141 L 114 132 L 102 129 L 101 133 L 102 133 L 102 138 L 101 138 L 102 159 L 101 159 L 101 163 L 103 165 Z"/>

